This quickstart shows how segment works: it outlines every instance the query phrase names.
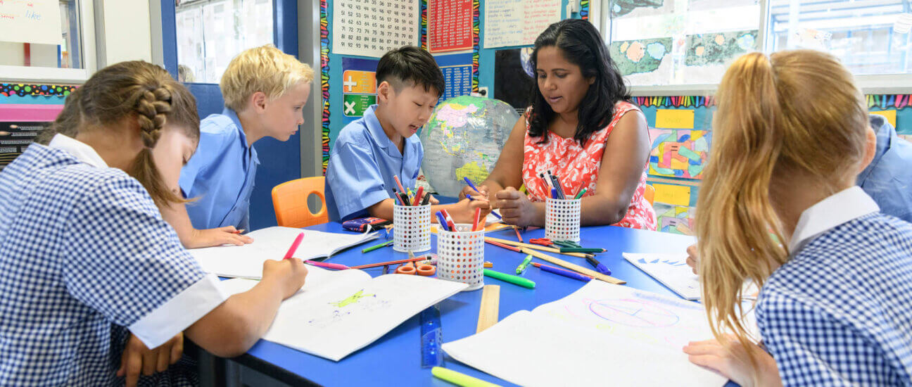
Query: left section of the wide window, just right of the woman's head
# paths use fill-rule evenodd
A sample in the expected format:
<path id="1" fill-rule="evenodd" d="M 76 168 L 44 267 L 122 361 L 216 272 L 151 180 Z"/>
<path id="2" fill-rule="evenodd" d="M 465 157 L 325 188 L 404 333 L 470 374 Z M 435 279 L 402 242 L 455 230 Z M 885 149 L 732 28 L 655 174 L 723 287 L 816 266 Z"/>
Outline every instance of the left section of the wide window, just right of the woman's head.
<path id="1" fill-rule="evenodd" d="M 758 48 L 755 0 L 609 0 L 611 57 L 634 85 L 716 83 Z"/>

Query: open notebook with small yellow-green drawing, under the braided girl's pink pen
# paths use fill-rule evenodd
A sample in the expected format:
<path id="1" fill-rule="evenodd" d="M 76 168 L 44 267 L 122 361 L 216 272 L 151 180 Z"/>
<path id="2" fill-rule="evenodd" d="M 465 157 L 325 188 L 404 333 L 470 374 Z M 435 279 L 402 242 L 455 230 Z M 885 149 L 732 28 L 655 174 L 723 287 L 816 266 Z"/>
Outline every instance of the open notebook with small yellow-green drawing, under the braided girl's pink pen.
<path id="1" fill-rule="evenodd" d="M 403 321 L 468 287 L 459 282 L 389 274 L 371 278 L 361 270 L 307 267 L 304 288 L 285 299 L 264 335 L 295 350 L 331 361 L 368 346 Z M 228 294 L 258 281 L 234 278 L 220 285 Z M 419 340 L 415 337 L 415 355 Z"/>

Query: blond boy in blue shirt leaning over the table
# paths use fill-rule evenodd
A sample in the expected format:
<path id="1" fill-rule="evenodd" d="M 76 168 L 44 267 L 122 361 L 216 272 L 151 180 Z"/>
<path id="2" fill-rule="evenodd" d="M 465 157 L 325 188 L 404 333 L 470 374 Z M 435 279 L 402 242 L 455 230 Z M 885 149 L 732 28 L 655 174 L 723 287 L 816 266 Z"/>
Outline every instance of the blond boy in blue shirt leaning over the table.
<path id="1" fill-rule="evenodd" d="M 188 248 L 252 242 L 250 194 L 259 160 L 254 142 L 287 141 L 304 123 L 314 71 L 272 45 L 234 57 L 222 76 L 221 114 L 200 123 L 200 144 L 181 169 L 180 188 L 190 204 L 173 204 L 161 214 Z"/>

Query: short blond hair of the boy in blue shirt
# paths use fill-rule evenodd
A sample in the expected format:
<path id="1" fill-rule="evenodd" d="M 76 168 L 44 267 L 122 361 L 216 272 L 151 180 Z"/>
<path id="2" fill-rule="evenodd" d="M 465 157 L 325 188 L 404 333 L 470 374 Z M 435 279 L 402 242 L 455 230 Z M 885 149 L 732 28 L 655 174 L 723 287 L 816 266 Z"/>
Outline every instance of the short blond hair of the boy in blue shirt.
<path id="1" fill-rule="evenodd" d="M 273 45 L 265 45 L 244 50 L 234 57 L 225 68 L 219 86 L 225 106 L 241 111 L 257 91 L 262 91 L 267 99 L 277 99 L 298 83 L 313 80 L 314 70 L 310 66 Z"/>

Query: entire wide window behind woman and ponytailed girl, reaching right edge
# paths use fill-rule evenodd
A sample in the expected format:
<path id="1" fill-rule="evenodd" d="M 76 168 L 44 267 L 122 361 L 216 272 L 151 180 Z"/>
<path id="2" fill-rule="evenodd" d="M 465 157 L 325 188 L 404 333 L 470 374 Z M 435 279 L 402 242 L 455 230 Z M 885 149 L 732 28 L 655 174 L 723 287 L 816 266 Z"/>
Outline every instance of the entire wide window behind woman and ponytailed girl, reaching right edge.
<path id="1" fill-rule="evenodd" d="M 761 49 L 827 51 L 862 76 L 862 87 L 895 86 L 896 78 L 885 81 L 885 74 L 912 73 L 912 7 L 903 0 L 604 0 L 601 5 L 611 56 L 637 88 L 716 84 L 734 58 Z"/>

